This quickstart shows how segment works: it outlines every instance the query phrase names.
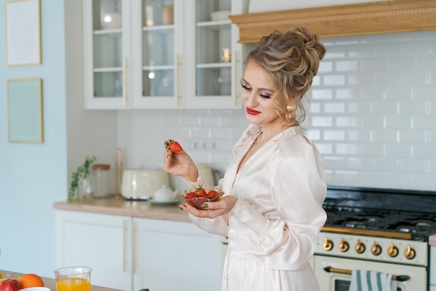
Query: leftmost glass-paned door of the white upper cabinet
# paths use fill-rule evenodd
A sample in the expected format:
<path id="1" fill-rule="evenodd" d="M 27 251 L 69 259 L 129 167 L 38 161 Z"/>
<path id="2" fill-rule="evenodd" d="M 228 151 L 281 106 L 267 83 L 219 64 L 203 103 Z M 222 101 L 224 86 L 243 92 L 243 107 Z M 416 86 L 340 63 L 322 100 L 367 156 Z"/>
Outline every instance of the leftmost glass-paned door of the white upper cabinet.
<path id="1" fill-rule="evenodd" d="M 84 1 L 84 82 L 91 109 L 127 106 L 128 5 L 123 0 Z"/>

